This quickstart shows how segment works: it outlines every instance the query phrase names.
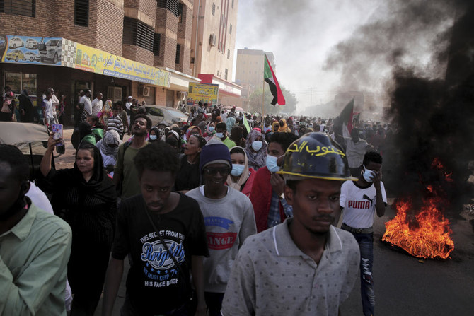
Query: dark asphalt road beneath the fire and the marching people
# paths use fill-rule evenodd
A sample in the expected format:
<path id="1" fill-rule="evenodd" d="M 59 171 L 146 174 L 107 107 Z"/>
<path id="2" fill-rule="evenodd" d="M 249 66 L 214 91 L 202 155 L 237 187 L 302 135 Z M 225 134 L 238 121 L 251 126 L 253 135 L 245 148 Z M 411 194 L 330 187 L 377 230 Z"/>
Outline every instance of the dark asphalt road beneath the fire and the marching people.
<path id="1" fill-rule="evenodd" d="M 56 159 L 57 168 L 71 168 L 74 163 L 74 148 L 70 144 L 72 130 L 64 130 L 66 153 Z M 468 316 L 474 315 L 474 232 L 469 220 L 474 214 L 468 211 L 451 221 L 454 250 L 451 259 L 422 260 L 403 252 L 394 251 L 381 237 L 386 221 L 395 216 L 390 207 L 386 215 L 376 218 L 374 223 L 374 282 L 376 293 L 376 315 L 383 316 Z M 120 315 L 125 298 L 125 279 L 128 262 L 113 315 Z M 100 300 L 95 315 L 100 315 Z M 341 306 L 342 315 L 362 315 L 360 281 Z"/>

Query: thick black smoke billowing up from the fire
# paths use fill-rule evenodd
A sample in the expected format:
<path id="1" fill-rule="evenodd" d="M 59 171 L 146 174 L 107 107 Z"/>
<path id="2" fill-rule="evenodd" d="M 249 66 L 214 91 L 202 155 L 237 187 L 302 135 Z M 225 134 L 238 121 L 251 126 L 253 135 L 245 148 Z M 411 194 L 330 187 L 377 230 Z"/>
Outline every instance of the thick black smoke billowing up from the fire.
<path id="1" fill-rule="evenodd" d="M 344 90 L 382 82 L 386 119 L 396 128 L 383 153 L 390 195 L 412 197 L 416 212 L 424 197 L 444 194 L 452 220 L 472 195 L 474 1 L 389 2 L 387 18 L 337 45 L 326 66 L 342 71 Z"/>

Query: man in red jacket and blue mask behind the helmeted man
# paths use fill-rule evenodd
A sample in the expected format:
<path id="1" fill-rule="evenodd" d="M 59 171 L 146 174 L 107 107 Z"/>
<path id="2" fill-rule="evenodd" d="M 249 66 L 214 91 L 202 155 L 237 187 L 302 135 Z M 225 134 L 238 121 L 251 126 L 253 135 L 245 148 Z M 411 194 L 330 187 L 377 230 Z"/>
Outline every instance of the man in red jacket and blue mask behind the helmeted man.
<path id="1" fill-rule="evenodd" d="M 250 201 L 255 212 L 257 230 L 260 233 L 289 218 L 292 215 L 291 205 L 287 204 L 284 192 L 284 180 L 277 175 L 283 163 L 284 153 L 288 146 L 298 137 L 291 133 L 274 133 L 268 144 L 266 166 L 260 168 L 253 180 Z"/>

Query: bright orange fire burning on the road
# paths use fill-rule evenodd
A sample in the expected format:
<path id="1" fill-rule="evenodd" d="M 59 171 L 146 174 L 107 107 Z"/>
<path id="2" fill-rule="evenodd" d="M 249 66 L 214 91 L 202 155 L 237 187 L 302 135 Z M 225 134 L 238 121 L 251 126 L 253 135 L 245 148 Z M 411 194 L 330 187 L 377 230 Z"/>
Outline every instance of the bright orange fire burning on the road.
<path id="1" fill-rule="evenodd" d="M 432 168 L 441 172 L 444 181 L 452 182 L 451 173 L 444 170 L 438 159 L 434 159 Z M 422 199 L 421 207 L 415 207 L 411 198 L 395 200 L 397 215 L 385 223 L 382 240 L 415 257 L 446 259 L 454 249 L 454 242 L 450 238 L 449 220 L 442 213 L 445 197 L 441 189 L 432 185 L 427 185 L 426 189 L 428 197 Z M 420 212 L 415 214 L 414 209 L 420 209 Z"/>

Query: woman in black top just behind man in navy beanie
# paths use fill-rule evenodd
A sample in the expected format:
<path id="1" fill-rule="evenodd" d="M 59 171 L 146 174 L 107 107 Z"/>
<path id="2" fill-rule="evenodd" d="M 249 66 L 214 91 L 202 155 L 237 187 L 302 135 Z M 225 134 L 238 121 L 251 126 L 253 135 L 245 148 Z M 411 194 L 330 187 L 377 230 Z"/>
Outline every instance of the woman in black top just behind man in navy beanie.
<path id="1" fill-rule="evenodd" d="M 206 140 L 200 135 L 191 135 L 185 144 L 185 155 L 180 161 L 180 170 L 176 175 L 176 191 L 186 193 L 201 184 L 200 153 Z"/>

